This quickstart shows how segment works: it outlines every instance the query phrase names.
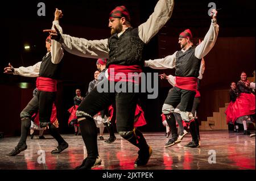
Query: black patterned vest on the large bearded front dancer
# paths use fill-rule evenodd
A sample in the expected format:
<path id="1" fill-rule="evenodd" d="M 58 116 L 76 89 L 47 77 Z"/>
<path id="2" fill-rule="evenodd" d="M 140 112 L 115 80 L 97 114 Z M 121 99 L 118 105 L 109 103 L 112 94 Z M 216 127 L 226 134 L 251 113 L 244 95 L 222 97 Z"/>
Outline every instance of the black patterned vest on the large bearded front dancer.
<path id="1" fill-rule="evenodd" d="M 139 38 L 138 28 L 128 28 L 118 37 L 117 33 L 108 40 L 109 44 L 109 65 L 144 65 L 142 52 L 144 42 Z"/>

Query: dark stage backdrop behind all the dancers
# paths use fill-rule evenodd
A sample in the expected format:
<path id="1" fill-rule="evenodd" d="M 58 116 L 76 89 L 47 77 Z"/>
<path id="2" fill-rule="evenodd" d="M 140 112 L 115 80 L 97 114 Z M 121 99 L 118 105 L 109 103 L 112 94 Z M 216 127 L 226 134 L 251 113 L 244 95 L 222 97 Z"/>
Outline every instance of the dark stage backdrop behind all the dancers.
<path id="1" fill-rule="evenodd" d="M 46 5 L 46 16 L 38 16 L 39 2 Z M 2 57 L 0 69 L 9 62 L 13 66 L 30 66 L 42 60 L 46 53 L 43 29 L 51 28 L 53 12 L 56 7 L 64 12 L 60 24 L 64 33 L 86 39 L 105 39 L 110 35 L 108 28 L 109 12 L 118 5 L 125 5 L 130 10 L 132 25 L 143 23 L 157 1 L 20 1 L 7 2 L 0 7 L 2 33 Z M 201 85 L 200 120 L 205 120 L 217 106 L 226 101 L 228 96 L 216 98 L 214 91 L 229 89 L 229 82 L 238 81 L 241 71 L 251 77 L 255 69 L 255 1 L 214 1 L 218 14 L 220 33 L 216 45 L 205 57 L 206 70 Z M 164 57 L 174 53 L 180 47 L 177 36 L 186 28 L 191 28 L 195 42 L 203 38 L 208 31 L 210 18 L 207 15 L 209 1 L 175 1 L 174 12 L 166 26 L 146 46 L 144 59 Z M 12 12 L 10 14 L 10 7 Z M 24 45 L 31 49 L 24 50 Z M 75 90 L 80 88 L 85 95 L 88 84 L 96 70 L 96 59 L 74 56 L 65 52 L 61 63 L 60 81 L 56 99 L 57 117 L 61 133 L 72 133 L 73 128 L 67 125 L 68 108 L 73 105 Z M 144 71 L 155 72 L 149 68 Z M 156 71 L 158 72 L 158 71 Z M 174 70 L 159 73 L 174 73 Z M 22 83 L 24 82 L 24 83 Z M 0 74 L 1 119 L 0 132 L 7 136 L 20 134 L 19 113 L 32 98 L 35 78 L 17 75 Z M 21 88 L 23 87 L 23 88 Z M 147 125 L 142 131 L 164 131 L 160 119 L 161 108 L 170 86 L 159 81 L 157 99 L 147 99 L 141 95 L 142 108 Z M 223 100 L 220 100 L 223 99 Z"/>

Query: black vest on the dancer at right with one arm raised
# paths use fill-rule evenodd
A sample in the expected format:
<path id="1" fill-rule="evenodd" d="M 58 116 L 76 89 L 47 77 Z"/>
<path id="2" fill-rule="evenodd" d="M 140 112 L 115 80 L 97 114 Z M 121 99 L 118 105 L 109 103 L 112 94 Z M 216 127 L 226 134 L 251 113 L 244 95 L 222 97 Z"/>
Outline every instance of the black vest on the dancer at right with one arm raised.
<path id="1" fill-rule="evenodd" d="M 175 76 L 178 77 L 198 77 L 201 59 L 195 56 L 196 47 L 189 48 L 187 51 L 181 50 L 176 53 Z"/>

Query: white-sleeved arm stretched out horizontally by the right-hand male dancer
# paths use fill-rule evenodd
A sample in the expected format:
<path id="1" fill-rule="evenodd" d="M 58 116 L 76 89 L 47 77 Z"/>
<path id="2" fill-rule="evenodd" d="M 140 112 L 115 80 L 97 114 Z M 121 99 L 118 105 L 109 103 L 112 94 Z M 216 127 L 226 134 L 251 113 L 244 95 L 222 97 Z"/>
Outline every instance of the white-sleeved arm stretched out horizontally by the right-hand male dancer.
<path id="1" fill-rule="evenodd" d="M 145 66 L 149 66 L 152 69 L 173 69 L 175 68 L 176 53 L 177 52 L 164 58 L 146 60 Z"/>

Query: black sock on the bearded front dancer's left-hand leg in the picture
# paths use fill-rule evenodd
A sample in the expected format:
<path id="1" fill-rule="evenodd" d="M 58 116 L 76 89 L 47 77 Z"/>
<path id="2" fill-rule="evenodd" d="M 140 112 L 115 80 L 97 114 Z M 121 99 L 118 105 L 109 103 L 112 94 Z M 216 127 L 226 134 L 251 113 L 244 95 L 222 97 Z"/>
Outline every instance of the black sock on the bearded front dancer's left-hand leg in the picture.
<path id="1" fill-rule="evenodd" d="M 78 117 L 79 118 L 79 117 Z M 95 121 L 89 118 L 79 122 L 82 140 L 87 150 L 87 158 L 96 159 L 98 157 L 97 127 Z"/>

